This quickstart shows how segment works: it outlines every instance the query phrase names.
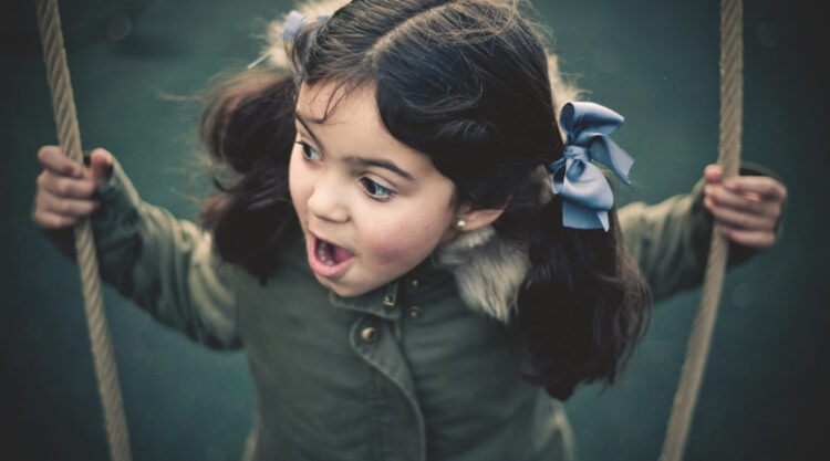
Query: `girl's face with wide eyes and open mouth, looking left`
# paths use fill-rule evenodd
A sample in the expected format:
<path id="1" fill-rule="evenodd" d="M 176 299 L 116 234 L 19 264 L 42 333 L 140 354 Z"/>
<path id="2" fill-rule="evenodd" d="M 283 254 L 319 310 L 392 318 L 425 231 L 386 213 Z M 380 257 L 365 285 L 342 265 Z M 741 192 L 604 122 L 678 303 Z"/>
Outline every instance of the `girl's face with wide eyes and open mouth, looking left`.
<path id="1" fill-rule="evenodd" d="M 356 296 L 405 274 L 453 239 L 454 185 L 383 126 L 369 86 L 325 123 L 332 87 L 302 85 L 291 153 L 291 200 L 318 281 Z"/>

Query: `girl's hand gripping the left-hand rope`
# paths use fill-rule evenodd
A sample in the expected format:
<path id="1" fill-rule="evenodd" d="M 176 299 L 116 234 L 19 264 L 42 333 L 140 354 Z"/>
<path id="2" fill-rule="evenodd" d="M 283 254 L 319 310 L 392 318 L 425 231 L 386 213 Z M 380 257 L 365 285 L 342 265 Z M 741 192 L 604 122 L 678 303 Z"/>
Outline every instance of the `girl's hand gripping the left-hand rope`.
<path id="1" fill-rule="evenodd" d="M 93 150 L 87 169 L 70 159 L 59 146 L 43 146 L 38 151 L 38 160 L 43 165 L 43 172 L 37 180 L 34 222 L 50 229 L 66 228 L 97 208 L 92 195 L 110 179 L 112 154 Z"/>

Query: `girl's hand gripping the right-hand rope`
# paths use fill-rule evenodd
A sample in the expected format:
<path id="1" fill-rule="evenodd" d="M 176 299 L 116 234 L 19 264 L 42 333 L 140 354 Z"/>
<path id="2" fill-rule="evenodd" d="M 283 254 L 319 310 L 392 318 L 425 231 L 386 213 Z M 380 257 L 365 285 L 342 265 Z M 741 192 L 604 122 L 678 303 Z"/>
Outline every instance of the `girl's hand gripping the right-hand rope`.
<path id="1" fill-rule="evenodd" d="M 703 203 L 724 235 L 746 247 L 772 247 L 787 188 L 768 176 L 735 176 L 722 182 L 722 174 L 720 166 L 714 164 L 704 170 L 708 184 Z"/>

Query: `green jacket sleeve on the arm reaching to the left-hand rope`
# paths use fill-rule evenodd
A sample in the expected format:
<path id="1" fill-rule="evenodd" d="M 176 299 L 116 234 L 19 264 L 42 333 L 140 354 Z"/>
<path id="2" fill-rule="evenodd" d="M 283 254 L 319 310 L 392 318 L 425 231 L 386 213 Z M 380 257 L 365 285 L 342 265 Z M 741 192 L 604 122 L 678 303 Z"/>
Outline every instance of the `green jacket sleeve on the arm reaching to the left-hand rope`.
<path id="1" fill-rule="evenodd" d="M 241 345 L 237 336 L 234 268 L 211 233 L 143 201 L 115 160 L 91 216 L 103 281 L 159 322 L 210 347 Z M 39 229 L 75 260 L 74 228 Z"/>

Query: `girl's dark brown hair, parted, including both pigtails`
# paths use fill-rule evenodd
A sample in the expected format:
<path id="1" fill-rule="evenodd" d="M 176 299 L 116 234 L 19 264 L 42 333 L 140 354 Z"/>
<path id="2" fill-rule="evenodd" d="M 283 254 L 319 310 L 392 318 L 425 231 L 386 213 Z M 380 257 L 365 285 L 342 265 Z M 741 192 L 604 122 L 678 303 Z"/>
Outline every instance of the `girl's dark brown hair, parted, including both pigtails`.
<path id="1" fill-rule="evenodd" d="M 615 209 L 609 232 L 563 228 L 561 199 L 540 192 L 563 144 L 539 30 L 497 0 L 356 0 L 308 23 L 288 48 L 293 77 L 246 74 L 205 112 L 204 139 L 239 175 L 231 187 L 216 181 L 221 193 L 200 214 L 219 252 L 260 279 L 273 272 L 297 229 L 287 185 L 297 90 L 336 84 L 328 115 L 371 84 L 386 129 L 426 154 L 460 202 L 506 207 L 496 232 L 527 245 L 531 269 L 511 318 L 527 378 L 560 399 L 582 381 L 613 383 L 651 291 Z"/>

